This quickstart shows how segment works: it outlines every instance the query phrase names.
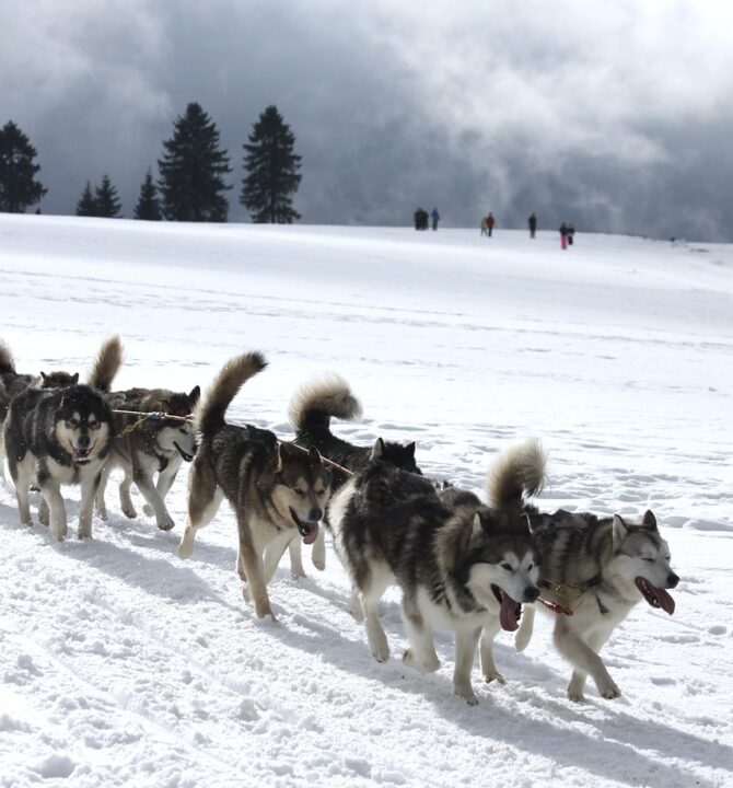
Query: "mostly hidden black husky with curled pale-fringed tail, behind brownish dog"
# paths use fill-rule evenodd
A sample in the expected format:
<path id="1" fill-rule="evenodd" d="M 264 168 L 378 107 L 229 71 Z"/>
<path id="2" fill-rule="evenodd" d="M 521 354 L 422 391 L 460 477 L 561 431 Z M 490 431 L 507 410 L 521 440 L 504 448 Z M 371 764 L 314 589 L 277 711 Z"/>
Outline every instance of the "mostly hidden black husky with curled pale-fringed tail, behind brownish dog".
<path id="1" fill-rule="evenodd" d="M 324 375 L 302 385 L 293 395 L 288 408 L 290 424 L 295 430 L 294 443 L 314 445 L 322 456 L 340 467 L 331 467 L 331 493 L 335 493 L 353 473 L 369 464 L 372 447 L 359 447 L 337 438 L 330 431 L 330 419 L 352 420 L 362 414 L 361 403 L 353 395 L 349 384 L 339 375 Z M 393 441 L 383 441 L 384 462 L 395 467 L 421 474 L 415 461 L 415 442 L 403 445 Z M 346 468 L 345 473 L 341 468 Z M 311 553 L 316 569 L 326 568 L 326 541 L 324 531 L 313 544 Z M 293 577 L 305 577 L 301 559 L 300 542 L 290 544 L 290 566 Z"/>

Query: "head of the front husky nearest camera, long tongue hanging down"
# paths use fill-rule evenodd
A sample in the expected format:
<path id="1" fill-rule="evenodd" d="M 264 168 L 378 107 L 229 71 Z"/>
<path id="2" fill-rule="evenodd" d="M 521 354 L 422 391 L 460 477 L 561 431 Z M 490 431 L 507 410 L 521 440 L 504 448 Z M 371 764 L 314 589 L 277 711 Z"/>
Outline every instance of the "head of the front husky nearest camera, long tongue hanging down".
<path id="1" fill-rule="evenodd" d="M 468 528 L 465 586 L 479 604 L 498 613 L 502 629 L 513 631 L 522 604 L 539 596 L 539 555 L 527 521 L 481 507 Z"/>

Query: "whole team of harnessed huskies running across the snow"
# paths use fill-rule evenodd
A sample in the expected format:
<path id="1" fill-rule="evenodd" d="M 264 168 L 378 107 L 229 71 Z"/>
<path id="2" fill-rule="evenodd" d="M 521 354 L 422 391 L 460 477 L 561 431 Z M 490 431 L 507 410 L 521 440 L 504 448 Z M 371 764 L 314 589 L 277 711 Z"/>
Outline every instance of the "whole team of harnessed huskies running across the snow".
<path id="1" fill-rule="evenodd" d="M 638 602 L 674 612 L 667 589 L 679 578 L 654 514 L 631 522 L 618 514 L 539 511 L 532 499 L 545 485 L 547 460 L 536 440 L 498 455 L 482 502 L 423 476 L 414 442 L 379 439 L 357 447 L 337 438 L 331 418 L 357 418 L 361 406 L 336 375 L 295 393 L 295 439 L 288 442 L 225 418 L 240 389 L 266 368 L 259 352 L 231 359 L 203 397 L 198 386 L 188 393 L 113 391 L 121 362 L 121 341 L 112 336 L 80 384 L 78 373 L 18 373 L 0 343 L 0 449 L 22 524 L 32 524 L 30 491 L 38 489 L 38 520 L 63 540 L 61 487 L 73 484 L 81 487 L 79 537 L 91 536 L 94 507 L 106 520 L 105 488 L 110 471 L 120 468 L 123 512 L 137 517 L 135 483 L 143 511 L 167 531 L 174 522 L 165 496 L 181 465 L 191 463 L 181 558 L 191 555 L 197 532 L 225 498 L 236 519 L 244 598 L 258 617 L 274 617 L 267 587 L 286 549 L 294 577 L 304 575 L 301 542 L 312 545 L 314 566 L 325 567 L 323 523 L 351 582 L 349 610 L 364 622 L 373 657 L 389 657 L 379 603 L 397 586 L 409 641 L 404 661 L 435 671 L 433 628 L 452 631 L 454 691 L 469 705 L 478 703 L 470 681 L 476 651 L 484 680 L 503 683 L 493 639 L 501 629 L 516 631 L 515 646 L 524 649 L 537 606 L 555 619 L 555 645 L 572 665 L 572 700 L 583 699 L 589 675 L 603 697 L 620 695 L 598 652 Z M 3 465 L 0 454 L 4 475 Z"/>

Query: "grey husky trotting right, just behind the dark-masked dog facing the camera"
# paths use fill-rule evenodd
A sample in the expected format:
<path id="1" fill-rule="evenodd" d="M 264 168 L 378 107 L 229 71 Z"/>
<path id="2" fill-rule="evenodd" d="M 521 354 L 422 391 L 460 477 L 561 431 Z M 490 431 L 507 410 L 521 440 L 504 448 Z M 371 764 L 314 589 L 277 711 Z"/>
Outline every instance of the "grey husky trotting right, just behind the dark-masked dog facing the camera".
<path id="1" fill-rule="evenodd" d="M 155 517 L 162 531 L 174 526 L 165 507 L 165 496 L 175 482 L 183 462 L 191 462 L 196 454 L 196 437 L 189 417 L 199 401 L 201 390 L 195 386 L 186 392 L 166 389 L 128 389 L 106 396 L 113 409 L 118 438 L 102 474 L 96 491 L 96 510 L 107 519 L 104 491 L 113 468 L 120 467 L 124 478 L 119 484 L 119 502 L 123 512 L 131 519 L 138 513 L 130 498 L 132 482 L 146 499 L 143 511 Z M 118 413 L 131 410 L 140 416 Z M 144 414 L 164 413 L 178 418 L 147 417 Z M 153 477 L 158 474 L 158 483 Z"/>

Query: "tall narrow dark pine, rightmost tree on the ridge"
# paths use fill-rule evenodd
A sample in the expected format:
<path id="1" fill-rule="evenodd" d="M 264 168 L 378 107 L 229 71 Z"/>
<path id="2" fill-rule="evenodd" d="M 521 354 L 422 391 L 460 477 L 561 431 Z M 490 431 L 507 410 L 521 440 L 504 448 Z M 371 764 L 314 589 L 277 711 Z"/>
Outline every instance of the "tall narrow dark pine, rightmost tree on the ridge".
<path id="1" fill-rule="evenodd" d="M 292 224 L 300 213 L 292 207 L 292 198 L 301 178 L 301 157 L 293 153 L 295 136 L 282 119 L 278 108 L 270 105 L 259 116 L 244 144 L 244 169 L 240 202 L 252 213 L 255 222 Z"/>

